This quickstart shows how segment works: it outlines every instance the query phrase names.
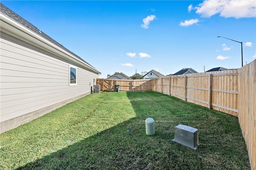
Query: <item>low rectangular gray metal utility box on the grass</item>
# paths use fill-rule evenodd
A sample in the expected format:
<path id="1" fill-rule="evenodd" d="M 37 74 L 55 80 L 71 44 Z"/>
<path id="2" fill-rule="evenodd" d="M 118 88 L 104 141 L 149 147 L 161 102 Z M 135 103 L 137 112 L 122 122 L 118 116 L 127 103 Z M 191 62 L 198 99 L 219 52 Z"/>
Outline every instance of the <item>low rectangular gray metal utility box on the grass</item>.
<path id="1" fill-rule="evenodd" d="M 172 141 L 196 150 L 198 146 L 198 129 L 180 124 L 175 127 L 175 137 Z"/>

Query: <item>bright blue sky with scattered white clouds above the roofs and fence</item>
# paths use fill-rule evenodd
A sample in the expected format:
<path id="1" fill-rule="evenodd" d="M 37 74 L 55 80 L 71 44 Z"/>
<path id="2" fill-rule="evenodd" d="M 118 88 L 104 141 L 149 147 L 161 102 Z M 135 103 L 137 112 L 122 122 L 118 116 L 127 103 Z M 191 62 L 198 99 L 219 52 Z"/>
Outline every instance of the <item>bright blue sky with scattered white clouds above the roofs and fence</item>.
<path id="1" fill-rule="evenodd" d="M 204 72 L 256 58 L 255 0 L 3 1 L 106 78 L 152 69 Z"/>

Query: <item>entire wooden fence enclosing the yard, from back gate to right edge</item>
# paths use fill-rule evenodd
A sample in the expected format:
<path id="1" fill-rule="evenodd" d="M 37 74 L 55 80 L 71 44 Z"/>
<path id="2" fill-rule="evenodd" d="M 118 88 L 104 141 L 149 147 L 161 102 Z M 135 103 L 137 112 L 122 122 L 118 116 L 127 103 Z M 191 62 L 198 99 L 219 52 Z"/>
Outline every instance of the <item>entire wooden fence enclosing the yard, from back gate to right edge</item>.
<path id="1" fill-rule="evenodd" d="M 146 80 L 97 79 L 101 91 L 154 91 L 222 111 L 239 119 L 252 170 L 256 170 L 256 60 L 237 70 Z"/>

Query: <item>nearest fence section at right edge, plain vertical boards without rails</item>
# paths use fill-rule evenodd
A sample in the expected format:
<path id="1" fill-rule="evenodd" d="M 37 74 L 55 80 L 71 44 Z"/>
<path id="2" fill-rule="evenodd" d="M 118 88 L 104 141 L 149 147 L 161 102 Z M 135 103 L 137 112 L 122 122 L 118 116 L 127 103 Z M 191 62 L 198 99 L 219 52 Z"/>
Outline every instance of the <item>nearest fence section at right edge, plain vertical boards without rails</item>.
<path id="1" fill-rule="evenodd" d="M 256 170 L 256 60 L 238 72 L 238 120 L 252 170 Z"/>

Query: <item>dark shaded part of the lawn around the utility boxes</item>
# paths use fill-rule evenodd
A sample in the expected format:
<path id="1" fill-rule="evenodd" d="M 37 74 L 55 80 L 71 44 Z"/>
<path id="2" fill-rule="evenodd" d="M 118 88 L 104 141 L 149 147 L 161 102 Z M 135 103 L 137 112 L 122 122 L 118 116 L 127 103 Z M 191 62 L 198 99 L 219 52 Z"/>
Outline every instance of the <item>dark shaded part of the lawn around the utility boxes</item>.
<path id="1" fill-rule="evenodd" d="M 155 92 L 127 97 L 136 117 L 18 169 L 250 169 L 236 117 Z M 147 117 L 154 136 L 145 134 Z M 172 141 L 178 124 L 198 129 L 197 150 Z"/>

